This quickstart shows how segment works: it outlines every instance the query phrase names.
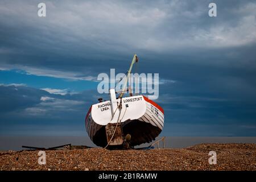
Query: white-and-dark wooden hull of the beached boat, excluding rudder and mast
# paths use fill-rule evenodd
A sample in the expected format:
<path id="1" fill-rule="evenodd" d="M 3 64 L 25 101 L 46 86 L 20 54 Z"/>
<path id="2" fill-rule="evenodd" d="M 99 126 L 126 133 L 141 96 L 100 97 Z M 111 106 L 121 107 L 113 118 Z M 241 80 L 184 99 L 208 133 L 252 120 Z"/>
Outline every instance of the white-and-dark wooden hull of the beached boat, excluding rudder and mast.
<path id="1" fill-rule="evenodd" d="M 105 147 L 108 144 L 105 126 L 117 121 L 121 122 L 123 135 L 131 135 L 131 146 L 149 143 L 158 137 L 164 126 L 162 107 L 144 96 L 124 97 L 121 105 L 121 109 L 115 110 L 114 117 L 110 101 L 90 107 L 85 118 L 85 127 L 93 143 Z"/>

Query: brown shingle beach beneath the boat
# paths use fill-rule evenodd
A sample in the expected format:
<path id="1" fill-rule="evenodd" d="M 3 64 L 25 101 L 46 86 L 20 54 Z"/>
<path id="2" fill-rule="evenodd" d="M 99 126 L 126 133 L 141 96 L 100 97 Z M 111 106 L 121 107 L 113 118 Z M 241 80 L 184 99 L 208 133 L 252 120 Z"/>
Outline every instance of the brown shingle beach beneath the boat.
<path id="1" fill-rule="evenodd" d="M 216 151 L 217 164 L 208 163 Z M 159 150 L 48 150 L 46 165 L 38 151 L 1 151 L 1 170 L 256 170 L 256 144 L 199 144 Z M 18 160 L 17 160 L 18 158 Z"/>

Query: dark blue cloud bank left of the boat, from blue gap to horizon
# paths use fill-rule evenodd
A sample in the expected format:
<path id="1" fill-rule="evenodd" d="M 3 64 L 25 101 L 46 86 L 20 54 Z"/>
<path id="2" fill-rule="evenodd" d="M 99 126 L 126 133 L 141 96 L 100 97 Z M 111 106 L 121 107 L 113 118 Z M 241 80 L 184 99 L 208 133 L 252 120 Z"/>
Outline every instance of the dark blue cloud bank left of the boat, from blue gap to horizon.
<path id="1" fill-rule="evenodd" d="M 86 134 L 85 115 L 97 101 L 94 90 L 63 96 L 28 86 L 1 85 L 0 93 L 1 135 L 49 134 L 52 127 L 57 134 Z"/>

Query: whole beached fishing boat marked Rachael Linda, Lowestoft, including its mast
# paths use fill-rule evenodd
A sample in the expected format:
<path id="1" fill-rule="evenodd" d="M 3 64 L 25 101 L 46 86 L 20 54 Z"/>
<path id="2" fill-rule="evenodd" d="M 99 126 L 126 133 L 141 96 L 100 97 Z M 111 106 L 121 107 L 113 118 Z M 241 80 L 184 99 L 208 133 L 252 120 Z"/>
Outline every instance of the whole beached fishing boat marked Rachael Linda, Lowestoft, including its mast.
<path id="1" fill-rule="evenodd" d="M 130 77 L 137 55 L 127 72 Z M 133 148 L 150 143 L 161 133 L 164 126 L 164 110 L 143 95 L 124 97 L 126 88 L 117 96 L 115 89 L 109 90 L 110 100 L 100 99 L 90 106 L 85 118 L 86 131 L 94 144 L 105 148 Z"/>

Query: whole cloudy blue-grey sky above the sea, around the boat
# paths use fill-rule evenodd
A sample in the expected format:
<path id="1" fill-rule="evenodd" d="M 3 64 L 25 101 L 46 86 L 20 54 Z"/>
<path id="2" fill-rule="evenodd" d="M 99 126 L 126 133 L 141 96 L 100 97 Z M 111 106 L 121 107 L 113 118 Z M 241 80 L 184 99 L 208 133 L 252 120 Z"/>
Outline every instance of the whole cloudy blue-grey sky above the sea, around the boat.
<path id="1" fill-rule="evenodd" d="M 46 3 L 46 17 L 38 3 Z M 217 16 L 208 15 L 209 3 Z M 0 135 L 87 136 L 97 76 L 159 73 L 163 136 L 256 136 L 255 1 L 0 2 Z"/>

